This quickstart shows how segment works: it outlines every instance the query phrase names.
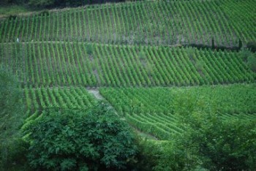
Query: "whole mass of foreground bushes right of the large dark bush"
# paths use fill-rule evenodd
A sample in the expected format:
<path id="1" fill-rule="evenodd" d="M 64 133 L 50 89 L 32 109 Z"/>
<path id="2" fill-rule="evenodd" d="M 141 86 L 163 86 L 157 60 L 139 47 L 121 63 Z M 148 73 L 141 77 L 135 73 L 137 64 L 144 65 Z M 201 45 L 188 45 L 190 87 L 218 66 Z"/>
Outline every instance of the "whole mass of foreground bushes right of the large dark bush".
<path id="1" fill-rule="evenodd" d="M 151 169 L 255 170 L 255 119 L 189 113 L 178 121 L 184 132 L 173 140 L 144 142 L 143 158 Z"/>

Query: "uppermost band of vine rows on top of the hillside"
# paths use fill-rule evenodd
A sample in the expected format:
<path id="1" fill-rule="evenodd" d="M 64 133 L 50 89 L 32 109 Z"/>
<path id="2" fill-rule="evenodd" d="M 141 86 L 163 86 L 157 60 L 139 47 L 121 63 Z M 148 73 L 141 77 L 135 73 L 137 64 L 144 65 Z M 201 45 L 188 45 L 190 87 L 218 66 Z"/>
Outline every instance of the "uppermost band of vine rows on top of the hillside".
<path id="1" fill-rule="evenodd" d="M 0 42 L 238 46 L 256 39 L 255 0 L 138 1 L 53 10 L 0 21 Z"/>

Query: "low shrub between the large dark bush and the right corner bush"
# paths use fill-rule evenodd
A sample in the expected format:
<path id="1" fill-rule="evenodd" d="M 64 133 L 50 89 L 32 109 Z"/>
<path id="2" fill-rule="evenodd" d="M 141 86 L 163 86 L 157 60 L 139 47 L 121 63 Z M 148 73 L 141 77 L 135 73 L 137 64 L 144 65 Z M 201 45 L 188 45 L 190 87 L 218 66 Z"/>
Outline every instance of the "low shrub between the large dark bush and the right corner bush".
<path id="1" fill-rule="evenodd" d="M 141 170 L 193 170 L 200 166 L 198 156 L 187 155 L 176 141 L 143 140 L 140 142 L 138 168 Z"/>

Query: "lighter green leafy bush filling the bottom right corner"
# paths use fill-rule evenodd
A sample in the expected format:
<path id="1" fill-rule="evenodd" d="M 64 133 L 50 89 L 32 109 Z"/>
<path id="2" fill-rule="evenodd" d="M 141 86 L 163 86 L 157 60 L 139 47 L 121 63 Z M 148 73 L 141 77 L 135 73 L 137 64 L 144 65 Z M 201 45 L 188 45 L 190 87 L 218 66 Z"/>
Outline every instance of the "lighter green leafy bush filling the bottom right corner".
<path id="1" fill-rule="evenodd" d="M 183 134 L 176 147 L 187 153 L 185 165 L 198 164 L 209 170 L 253 170 L 255 168 L 256 120 L 223 120 L 217 114 L 190 113 L 181 119 Z M 191 159 L 192 156 L 196 156 Z M 192 163 L 187 161 L 193 161 Z"/>

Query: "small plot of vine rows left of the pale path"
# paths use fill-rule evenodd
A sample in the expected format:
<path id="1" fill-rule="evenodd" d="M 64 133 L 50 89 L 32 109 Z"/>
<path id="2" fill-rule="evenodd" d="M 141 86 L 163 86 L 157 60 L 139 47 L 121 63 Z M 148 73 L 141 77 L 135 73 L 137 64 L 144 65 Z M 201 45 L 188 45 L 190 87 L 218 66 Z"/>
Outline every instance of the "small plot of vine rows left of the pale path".
<path id="1" fill-rule="evenodd" d="M 97 100 L 86 88 L 24 88 L 25 103 L 29 111 L 46 108 L 86 109 L 96 104 Z"/>

